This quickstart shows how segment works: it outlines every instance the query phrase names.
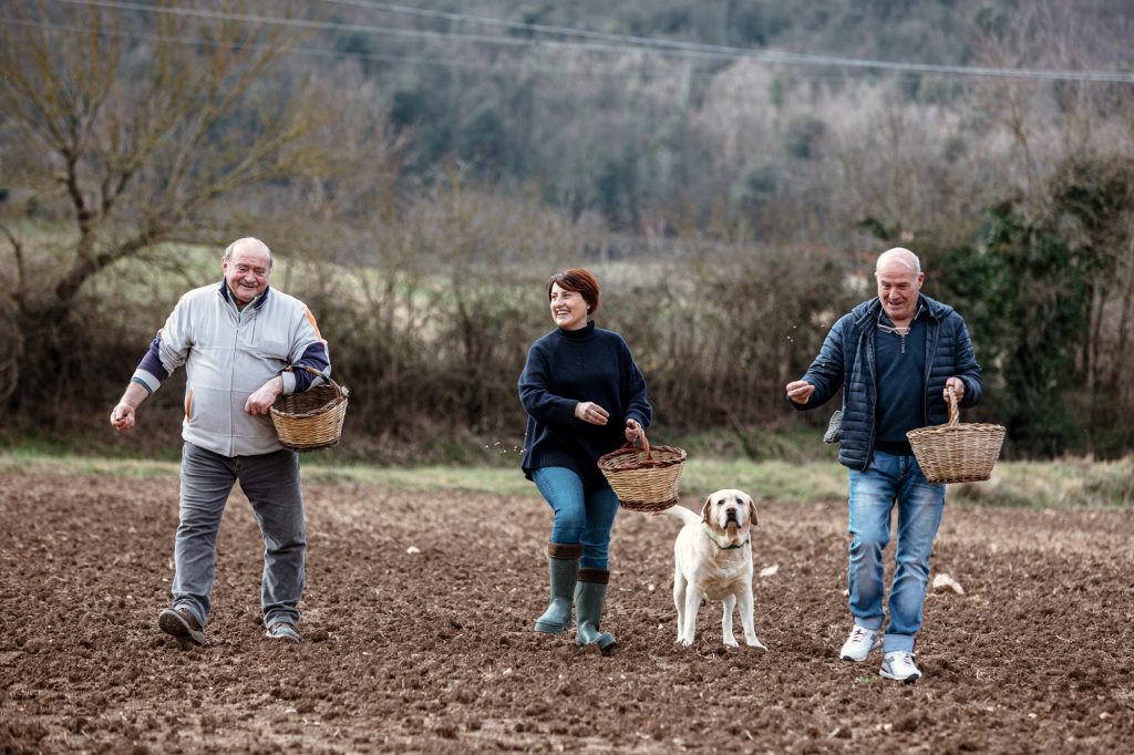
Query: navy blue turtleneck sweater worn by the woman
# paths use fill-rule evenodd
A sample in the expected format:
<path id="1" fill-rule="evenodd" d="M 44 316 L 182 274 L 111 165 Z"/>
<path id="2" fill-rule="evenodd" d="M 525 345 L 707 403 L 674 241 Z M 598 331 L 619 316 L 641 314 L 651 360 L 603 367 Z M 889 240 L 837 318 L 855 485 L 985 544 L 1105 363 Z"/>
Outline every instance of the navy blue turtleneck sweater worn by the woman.
<path id="1" fill-rule="evenodd" d="M 527 410 L 524 434 L 524 476 L 533 469 L 566 467 L 587 487 L 607 486 L 599 457 L 626 442 L 626 421 L 649 429 L 653 410 L 645 380 L 618 333 L 594 326 L 568 331 L 557 328 L 527 351 L 519 375 L 519 401 Z M 606 425 L 575 418 L 581 401 L 593 401 L 610 417 Z"/>

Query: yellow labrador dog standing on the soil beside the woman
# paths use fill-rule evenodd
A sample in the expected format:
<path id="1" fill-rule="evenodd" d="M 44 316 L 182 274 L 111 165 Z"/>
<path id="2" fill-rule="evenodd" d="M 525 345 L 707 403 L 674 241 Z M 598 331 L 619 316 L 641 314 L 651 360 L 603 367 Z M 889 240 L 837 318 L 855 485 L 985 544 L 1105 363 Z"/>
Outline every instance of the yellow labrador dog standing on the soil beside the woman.
<path id="1" fill-rule="evenodd" d="M 701 516 L 682 506 L 667 511 L 685 523 L 674 542 L 674 604 L 677 606 L 677 642 L 693 644 L 701 601 L 720 601 L 725 613 L 725 644 L 736 646 L 733 609 L 741 606 L 744 642 L 764 647 L 752 620 L 752 527 L 756 507 L 739 490 L 719 490 L 701 508 Z"/>

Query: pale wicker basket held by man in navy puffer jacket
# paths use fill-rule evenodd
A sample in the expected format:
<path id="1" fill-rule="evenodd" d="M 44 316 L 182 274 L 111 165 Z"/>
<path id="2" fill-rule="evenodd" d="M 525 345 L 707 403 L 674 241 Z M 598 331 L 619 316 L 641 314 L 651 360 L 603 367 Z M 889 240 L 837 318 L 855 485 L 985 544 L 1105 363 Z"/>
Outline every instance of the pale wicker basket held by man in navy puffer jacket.
<path id="1" fill-rule="evenodd" d="M 960 424 L 957 397 L 949 397 L 949 422 L 906 433 L 925 480 L 931 483 L 981 482 L 1000 457 L 1004 426 Z"/>

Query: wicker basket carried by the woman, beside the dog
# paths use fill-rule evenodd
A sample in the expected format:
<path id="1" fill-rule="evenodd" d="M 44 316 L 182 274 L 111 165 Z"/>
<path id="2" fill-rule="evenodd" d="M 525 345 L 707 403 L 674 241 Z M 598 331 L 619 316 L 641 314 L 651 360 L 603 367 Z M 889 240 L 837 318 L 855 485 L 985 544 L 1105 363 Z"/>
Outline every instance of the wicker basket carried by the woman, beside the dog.
<path id="1" fill-rule="evenodd" d="M 685 468 L 685 451 L 672 446 L 650 447 L 638 432 L 642 450 L 626 443 L 599 458 L 599 469 L 618 495 L 618 502 L 634 511 L 663 511 L 677 503 L 677 482 Z"/>

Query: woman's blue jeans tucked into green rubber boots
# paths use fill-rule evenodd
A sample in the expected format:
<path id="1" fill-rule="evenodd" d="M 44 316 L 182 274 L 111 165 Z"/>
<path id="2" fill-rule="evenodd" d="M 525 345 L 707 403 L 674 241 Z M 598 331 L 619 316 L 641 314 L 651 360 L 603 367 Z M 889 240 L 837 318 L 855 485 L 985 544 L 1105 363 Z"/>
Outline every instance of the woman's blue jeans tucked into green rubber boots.
<path id="1" fill-rule="evenodd" d="M 532 480 L 555 512 L 551 542 L 583 543 L 578 565 L 606 569 L 610 553 L 610 529 L 618 514 L 618 497 L 609 487 L 586 490 L 577 474 L 564 467 L 533 469 Z"/>

